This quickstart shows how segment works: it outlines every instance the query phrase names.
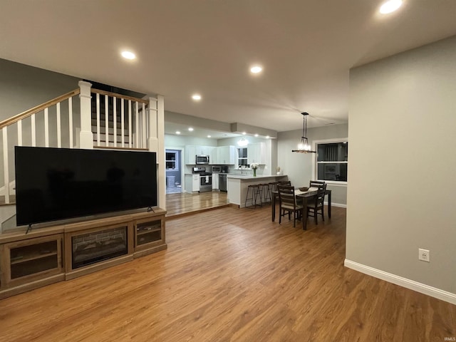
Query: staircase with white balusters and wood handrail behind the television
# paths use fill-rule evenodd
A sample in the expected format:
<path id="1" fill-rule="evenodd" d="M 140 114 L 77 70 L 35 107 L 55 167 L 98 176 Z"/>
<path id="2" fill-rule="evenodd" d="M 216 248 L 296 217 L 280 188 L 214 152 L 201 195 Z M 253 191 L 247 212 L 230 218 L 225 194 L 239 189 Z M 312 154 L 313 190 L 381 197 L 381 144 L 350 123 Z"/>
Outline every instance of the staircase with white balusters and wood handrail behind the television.
<path id="1" fill-rule="evenodd" d="M 78 89 L 0 122 L 0 204 L 15 201 L 15 145 L 148 150 L 157 152 L 160 161 L 164 158 L 164 150 L 158 148 L 159 140 L 164 140 L 163 112 L 162 96 L 134 98 L 80 81 Z M 164 174 L 159 169 L 159 180 Z M 165 202 L 161 188 L 159 204 Z"/>

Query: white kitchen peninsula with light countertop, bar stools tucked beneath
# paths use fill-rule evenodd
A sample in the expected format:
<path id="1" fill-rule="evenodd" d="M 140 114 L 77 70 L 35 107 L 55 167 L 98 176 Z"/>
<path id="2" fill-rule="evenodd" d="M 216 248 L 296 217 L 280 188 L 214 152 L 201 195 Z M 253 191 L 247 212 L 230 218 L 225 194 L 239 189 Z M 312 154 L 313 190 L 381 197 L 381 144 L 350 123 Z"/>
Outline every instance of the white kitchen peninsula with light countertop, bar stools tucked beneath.
<path id="1" fill-rule="evenodd" d="M 279 180 L 288 180 L 286 175 L 227 175 L 227 197 L 231 204 L 239 205 L 243 208 L 245 205 L 245 197 L 247 195 L 247 187 L 254 184 L 263 184 L 269 182 L 279 182 Z"/>

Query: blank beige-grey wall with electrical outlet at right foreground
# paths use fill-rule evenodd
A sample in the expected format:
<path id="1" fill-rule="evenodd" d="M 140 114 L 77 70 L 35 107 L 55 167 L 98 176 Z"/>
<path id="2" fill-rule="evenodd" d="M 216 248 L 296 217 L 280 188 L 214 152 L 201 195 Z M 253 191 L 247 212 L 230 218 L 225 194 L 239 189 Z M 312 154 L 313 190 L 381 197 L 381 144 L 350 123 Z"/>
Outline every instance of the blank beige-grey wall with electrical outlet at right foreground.
<path id="1" fill-rule="evenodd" d="M 455 61 L 453 36 L 351 70 L 346 238 L 346 259 L 361 268 L 451 294 Z M 430 263 L 418 248 L 430 249 Z"/>

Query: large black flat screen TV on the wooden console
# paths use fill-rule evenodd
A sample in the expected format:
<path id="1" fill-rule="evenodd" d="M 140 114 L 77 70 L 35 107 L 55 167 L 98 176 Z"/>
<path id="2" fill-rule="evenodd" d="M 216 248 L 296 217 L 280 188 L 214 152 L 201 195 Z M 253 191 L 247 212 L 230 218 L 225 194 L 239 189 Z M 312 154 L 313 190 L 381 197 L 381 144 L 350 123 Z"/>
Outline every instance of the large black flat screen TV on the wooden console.
<path id="1" fill-rule="evenodd" d="M 155 152 L 15 147 L 17 225 L 157 205 Z"/>

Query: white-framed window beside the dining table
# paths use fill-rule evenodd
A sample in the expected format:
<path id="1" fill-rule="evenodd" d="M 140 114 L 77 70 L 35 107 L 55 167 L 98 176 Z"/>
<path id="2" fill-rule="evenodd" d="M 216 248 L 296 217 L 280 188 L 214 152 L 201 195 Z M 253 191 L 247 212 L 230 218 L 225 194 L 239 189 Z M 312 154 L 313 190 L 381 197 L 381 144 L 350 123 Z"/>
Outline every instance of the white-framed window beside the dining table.
<path id="1" fill-rule="evenodd" d="M 316 178 L 333 182 L 346 182 L 348 169 L 348 142 L 316 144 Z"/>

